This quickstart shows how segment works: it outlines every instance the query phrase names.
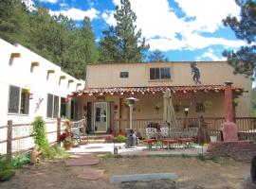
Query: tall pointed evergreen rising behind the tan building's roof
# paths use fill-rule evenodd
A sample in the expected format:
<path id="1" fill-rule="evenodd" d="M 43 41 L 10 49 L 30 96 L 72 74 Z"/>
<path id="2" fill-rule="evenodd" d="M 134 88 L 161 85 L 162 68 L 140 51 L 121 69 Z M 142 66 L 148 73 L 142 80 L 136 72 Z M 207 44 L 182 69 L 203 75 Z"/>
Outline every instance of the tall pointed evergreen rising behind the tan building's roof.
<path id="1" fill-rule="evenodd" d="M 137 16 L 131 9 L 129 0 L 120 0 L 120 8 L 116 7 L 114 17 L 117 26 L 110 26 L 103 31 L 104 38 L 100 42 L 100 60 L 102 62 L 137 62 L 142 61 L 143 51 L 149 49 L 145 38 L 141 38 L 141 30 L 136 32 Z"/>

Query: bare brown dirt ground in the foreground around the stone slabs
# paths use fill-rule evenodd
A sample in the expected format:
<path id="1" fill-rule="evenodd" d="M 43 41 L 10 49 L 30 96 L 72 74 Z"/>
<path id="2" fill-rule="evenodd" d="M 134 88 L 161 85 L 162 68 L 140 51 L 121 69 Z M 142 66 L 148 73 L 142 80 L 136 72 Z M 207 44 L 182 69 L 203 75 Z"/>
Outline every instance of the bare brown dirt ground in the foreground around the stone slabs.
<path id="1" fill-rule="evenodd" d="M 249 170 L 249 164 L 228 159 L 214 163 L 184 157 L 101 158 L 101 163 L 89 167 L 104 169 L 105 177 L 101 180 L 81 180 L 76 175 L 81 173 L 84 167 L 66 167 L 63 160 L 54 160 L 37 165 L 27 165 L 17 170 L 13 179 L 0 183 L 0 188 L 256 188 L 243 178 L 243 174 Z M 111 185 L 108 181 L 113 175 L 159 172 L 175 172 L 179 179 L 175 183 L 171 180 L 154 180 L 119 185 Z"/>

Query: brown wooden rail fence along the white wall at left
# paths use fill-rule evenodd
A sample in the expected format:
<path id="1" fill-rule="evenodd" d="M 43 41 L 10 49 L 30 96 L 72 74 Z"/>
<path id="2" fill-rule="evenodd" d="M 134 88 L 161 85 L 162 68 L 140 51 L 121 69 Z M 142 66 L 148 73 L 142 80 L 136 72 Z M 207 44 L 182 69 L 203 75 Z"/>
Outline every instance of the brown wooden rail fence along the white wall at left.
<path id="1" fill-rule="evenodd" d="M 72 126 L 81 124 L 84 119 L 72 122 Z M 46 122 L 46 135 L 48 142 L 53 144 L 58 141 L 61 132 L 64 130 L 64 121 L 57 118 L 56 121 Z M 29 124 L 13 124 L 9 120 L 7 126 L 0 126 L 0 154 L 7 154 L 8 160 L 15 152 L 27 151 L 33 148 L 33 126 Z M 3 140 L 4 139 L 4 140 Z"/>

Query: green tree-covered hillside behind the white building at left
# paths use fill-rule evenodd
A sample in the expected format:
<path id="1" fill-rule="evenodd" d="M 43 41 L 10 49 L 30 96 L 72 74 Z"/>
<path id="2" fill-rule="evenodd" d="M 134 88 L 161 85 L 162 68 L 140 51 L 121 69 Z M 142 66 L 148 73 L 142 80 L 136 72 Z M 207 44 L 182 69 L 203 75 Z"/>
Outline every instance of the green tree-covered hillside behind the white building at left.
<path id="1" fill-rule="evenodd" d="M 0 2 L 0 38 L 26 46 L 77 78 L 84 79 L 86 64 L 99 58 L 89 18 L 76 27 L 73 20 L 51 16 L 48 9 L 29 11 L 20 0 Z"/>

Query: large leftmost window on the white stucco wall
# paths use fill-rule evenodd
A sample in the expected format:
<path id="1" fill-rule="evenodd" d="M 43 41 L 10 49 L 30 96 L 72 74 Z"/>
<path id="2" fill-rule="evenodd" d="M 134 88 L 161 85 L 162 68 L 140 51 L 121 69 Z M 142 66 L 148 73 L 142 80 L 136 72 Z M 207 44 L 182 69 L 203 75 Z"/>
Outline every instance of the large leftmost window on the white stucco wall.
<path id="1" fill-rule="evenodd" d="M 9 86 L 9 113 L 29 113 L 29 94 L 26 89 Z"/>

